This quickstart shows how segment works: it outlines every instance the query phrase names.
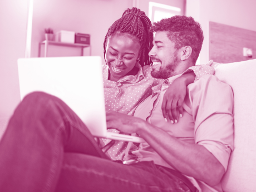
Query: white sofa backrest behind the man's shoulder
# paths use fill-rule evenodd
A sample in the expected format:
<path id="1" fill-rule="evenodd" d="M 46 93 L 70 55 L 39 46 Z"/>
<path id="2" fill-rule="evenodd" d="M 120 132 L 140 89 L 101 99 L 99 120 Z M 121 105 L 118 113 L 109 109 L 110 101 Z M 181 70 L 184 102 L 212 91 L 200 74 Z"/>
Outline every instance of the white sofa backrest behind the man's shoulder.
<path id="1" fill-rule="evenodd" d="M 234 92 L 234 144 L 225 192 L 256 191 L 256 60 L 215 65 L 215 76 Z M 0 118 L 0 138 L 8 119 Z"/>

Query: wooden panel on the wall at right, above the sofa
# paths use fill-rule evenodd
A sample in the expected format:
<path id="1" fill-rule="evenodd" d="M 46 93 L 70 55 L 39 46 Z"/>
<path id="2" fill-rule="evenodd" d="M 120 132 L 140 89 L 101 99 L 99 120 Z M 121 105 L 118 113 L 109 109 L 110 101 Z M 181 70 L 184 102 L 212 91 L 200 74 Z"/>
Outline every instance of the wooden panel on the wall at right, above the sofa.
<path id="1" fill-rule="evenodd" d="M 209 58 L 214 62 L 232 63 L 256 58 L 256 31 L 209 22 L 209 41 Z M 252 58 L 243 56 L 243 47 L 252 48 Z"/>

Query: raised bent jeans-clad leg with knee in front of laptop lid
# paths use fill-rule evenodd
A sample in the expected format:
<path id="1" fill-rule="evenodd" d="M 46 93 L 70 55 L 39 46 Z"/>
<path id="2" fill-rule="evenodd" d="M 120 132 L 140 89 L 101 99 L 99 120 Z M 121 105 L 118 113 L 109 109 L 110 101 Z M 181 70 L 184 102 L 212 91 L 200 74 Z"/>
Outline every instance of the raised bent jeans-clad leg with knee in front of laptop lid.
<path id="1" fill-rule="evenodd" d="M 63 101 L 43 92 L 24 97 L 0 142 L 0 191 L 54 191 L 65 151 L 107 159 Z"/>

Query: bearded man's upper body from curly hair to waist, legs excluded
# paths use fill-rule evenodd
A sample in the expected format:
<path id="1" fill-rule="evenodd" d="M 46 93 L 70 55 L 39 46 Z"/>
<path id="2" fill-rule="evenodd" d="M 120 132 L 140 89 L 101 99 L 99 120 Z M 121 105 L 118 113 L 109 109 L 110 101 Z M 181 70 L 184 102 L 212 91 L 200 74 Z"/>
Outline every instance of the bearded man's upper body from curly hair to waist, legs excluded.
<path id="1" fill-rule="evenodd" d="M 166 80 L 152 88 L 152 96 L 137 107 L 134 117 L 112 112 L 107 115 L 107 126 L 136 132 L 146 140 L 132 151 L 137 160 L 152 160 L 193 177 L 190 181 L 203 191 L 221 191 L 220 179 L 234 147 L 232 90 L 215 76 L 201 77 L 188 86 L 180 122 L 165 122 L 163 94 L 181 73 L 195 65 L 203 32 L 193 18 L 185 16 L 163 19 L 152 29 L 156 34 L 149 55 L 156 65 L 151 75 Z"/>

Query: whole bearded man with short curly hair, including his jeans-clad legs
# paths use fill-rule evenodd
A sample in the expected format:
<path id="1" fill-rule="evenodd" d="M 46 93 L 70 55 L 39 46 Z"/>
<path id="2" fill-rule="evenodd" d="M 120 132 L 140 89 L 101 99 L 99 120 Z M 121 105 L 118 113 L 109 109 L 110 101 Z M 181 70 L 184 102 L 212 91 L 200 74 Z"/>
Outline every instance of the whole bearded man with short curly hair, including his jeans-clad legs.
<path id="1" fill-rule="evenodd" d="M 36 92 L 24 97 L 0 142 L 0 191 L 221 191 L 233 150 L 232 90 L 214 76 L 201 77 L 188 86 L 179 122 L 166 114 L 165 121 L 163 94 L 195 65 L 203 32 L 185 16 L 152 29 L 152 76 L 166 80 L 134 117 L 107 114 L 108 127 L 146 141 L 129 144 L 129 165 L 108 159 L 63 101 Z"/>

